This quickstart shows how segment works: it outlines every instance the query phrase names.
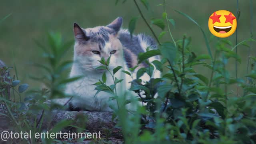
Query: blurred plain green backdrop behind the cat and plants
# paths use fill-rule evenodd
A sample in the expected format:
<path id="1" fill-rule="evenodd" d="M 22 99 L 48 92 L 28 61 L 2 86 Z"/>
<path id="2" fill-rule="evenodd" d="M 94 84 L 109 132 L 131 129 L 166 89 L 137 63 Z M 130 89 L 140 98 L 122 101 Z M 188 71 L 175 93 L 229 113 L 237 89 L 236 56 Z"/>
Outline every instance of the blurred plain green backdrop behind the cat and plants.
<path id="1" fill-rule="evenodd" d="M 162 0 L 148 0 L 151 10 L 146 8 L 138 0 L 138 4 L 150 22 L 151 18 L 162 18 Z M 77 22 L 81 27 L 88 28 L 98 25 L 107 25 L 118 16 L 124 19 L 123 28 L 128 28 L 128 23 L 133 16 L 139 16 L 138 10 L 133 0 L 127 0 L 122 4 L 122 0 L 115 6 L 116 0 L 0 0 L 0 19 L 11 14 L 2 24 L 0 24 L 0 59 L 8 66 L 14 66 L 18 70 L 19 79 L 30 84 L 31 87 L 38 87 L 40 84 L 29 78 L 43 75 L 40 69 L 30 65 L 32 62 L 44 63 L 41 58 L 42 51 L 34 40 L 46 44 L 46 34 L 49 31 L 60 32 L 64 40 L 73 40 L 73 23 Z M 256 12 L 256 2 L 253 1 L 254 14 Z M 208 38 L 212 36 L 208 30 L 208 18 L 216 10 L 228 10 L 236 14 L 236 0 L 167 0 L 168 17 L 176 22 L 176 26 L 171 26 L 175 40 L 182 39 L 183 35 L 192 37 L 191 46 L 196 54 L 208 54 L 202 32 L 194 23 L 178 14 L 173 9 L 179 10 L 191 16 L 202 26 Z M 238 21 L 238 42 L 250 38 L 250 10 L 249 0 L 239 0 L 241 11 Z M 254 15 L 253 34 L 256 34 L 256 14 Z M 162 31 L 156 26 L 152 26 L 157 35 Z M 167 30 L 167 27 L 165 28 Z M 142 18 L 137 21 L 135 33 L 146 33 L 151 35 Z M 227 38 L 235 43 L 235 34 Z M 170 41 L 166 34 L 161 41 Z M 211 43 L 214 52 L 214 43 Z M 251 56 L 255 56 L 256 44 L 251 47 Z M 242 58 L 242 63 L 238 64 L 238 76 L 246 73 L 248 48 L 238 47 L 238 54 Z M 66 55 L 66 59 L 72 59 L 73 48 Z M 234 60 L 228 64 L 228 69 L 234 75 Z M 198 68 L 198 72 L 208 76 L 208 69 Z M 12 75 L 14 70 L 12 71 Z"/>

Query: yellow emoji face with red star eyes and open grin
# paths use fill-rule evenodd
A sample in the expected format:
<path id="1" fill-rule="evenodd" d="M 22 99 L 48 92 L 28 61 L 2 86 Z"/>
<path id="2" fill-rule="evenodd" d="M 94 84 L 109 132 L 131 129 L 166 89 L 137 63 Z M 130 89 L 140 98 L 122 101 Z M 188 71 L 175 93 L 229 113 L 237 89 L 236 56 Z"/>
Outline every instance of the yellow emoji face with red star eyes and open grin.
<path id="1" fill-rule="evenodd" d="M 214 36 L 226 38 L 236 31 L 236 17 L 227 10 L 218 10 L 210 16 L 208 27 Z"/>

